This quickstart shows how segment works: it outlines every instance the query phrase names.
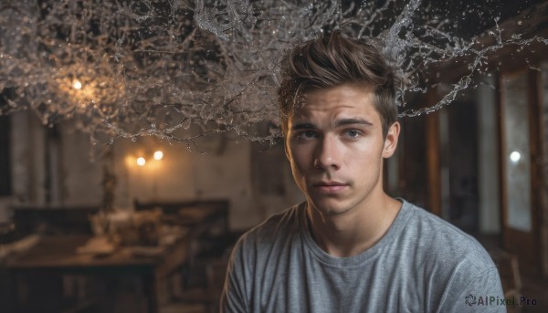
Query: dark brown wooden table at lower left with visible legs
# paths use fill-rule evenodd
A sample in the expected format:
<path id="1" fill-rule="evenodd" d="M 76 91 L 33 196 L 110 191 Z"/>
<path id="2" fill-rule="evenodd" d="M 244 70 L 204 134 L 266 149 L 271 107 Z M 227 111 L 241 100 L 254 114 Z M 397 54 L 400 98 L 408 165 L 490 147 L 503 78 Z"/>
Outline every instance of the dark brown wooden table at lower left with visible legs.
<path id="1" fill-rule="evenodd" d="M 77 247 L 85 245 L 89 239 L 89 235 L 42 237 L 23 256 L 16 256 L 6 262 L 5 266 L 12 276 L 13 290 L 17 290 L 20 280 L 18 278 L 34 274 L 47 273 L 50 276 L 59 276 L 60 279 L 66 275 L 132 275 L 142 280 L 143 292 L 147 297 L 147 311 L 158 312 L 162 283 L 186 260 L 187 238 L 181 238 L 173 245 L 163 246 L 161 252 L 155 256 L 134 256 L 131 248 L 124 247 L 106 256 L 76 253 Z M 18 298 L 14 297 L 14 301 L 18 302 Z M 16 312 L 19 312 L 20 306 L 16 303 L 15 307 Z"/>

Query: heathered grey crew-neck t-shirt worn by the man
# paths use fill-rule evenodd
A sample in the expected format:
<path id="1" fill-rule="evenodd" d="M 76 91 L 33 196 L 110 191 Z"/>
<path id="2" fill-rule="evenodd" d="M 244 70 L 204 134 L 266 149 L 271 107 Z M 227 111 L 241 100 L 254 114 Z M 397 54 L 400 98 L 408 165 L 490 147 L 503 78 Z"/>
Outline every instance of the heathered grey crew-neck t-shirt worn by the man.
<path id="1" fill-rule="evenodd" d="M 401 201 L 386 234 L 350 257 L 330 256 L 314 242 L 304 203 L 273 215 L 235 246 L 221 309 L 505 312 L 497 300 L 503 299 L 501 279 L 485 249 L 452 224 Z"/>

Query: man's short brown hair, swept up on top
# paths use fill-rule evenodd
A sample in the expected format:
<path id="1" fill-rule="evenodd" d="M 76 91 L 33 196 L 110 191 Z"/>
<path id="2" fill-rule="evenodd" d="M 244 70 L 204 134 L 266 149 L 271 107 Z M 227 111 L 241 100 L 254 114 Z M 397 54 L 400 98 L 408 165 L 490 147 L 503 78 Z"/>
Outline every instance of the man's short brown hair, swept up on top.
<path id="1" fill-rule="evenodd" d="M 330 88 L 344 83 L 364 83 L 374 88 L 375 109 L 382 120 L 383 134 L 397 120 L 395 71 L 379 50 L 371 44 L 342 37 L 340 31 L 330 37 L 307 41 L 290 51 L 282 62 L 282 81 L 278 104 L 283 134 L 307 89 Z"/>

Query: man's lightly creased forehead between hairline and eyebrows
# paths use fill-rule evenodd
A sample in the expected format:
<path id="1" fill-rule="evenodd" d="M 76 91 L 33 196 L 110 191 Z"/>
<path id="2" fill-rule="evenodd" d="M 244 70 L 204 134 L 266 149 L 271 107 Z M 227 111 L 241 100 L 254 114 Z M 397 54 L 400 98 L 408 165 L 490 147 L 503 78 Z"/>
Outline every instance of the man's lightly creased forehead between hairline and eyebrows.
<path id="1" fill-rule="evenodd" d="M 292 118 L 300 120 L 321 114 L 351 114 L 370 118 L 376 116 L 380 119 L 374 106 L 374 89 L 357 84 L 304 92 Z"/>

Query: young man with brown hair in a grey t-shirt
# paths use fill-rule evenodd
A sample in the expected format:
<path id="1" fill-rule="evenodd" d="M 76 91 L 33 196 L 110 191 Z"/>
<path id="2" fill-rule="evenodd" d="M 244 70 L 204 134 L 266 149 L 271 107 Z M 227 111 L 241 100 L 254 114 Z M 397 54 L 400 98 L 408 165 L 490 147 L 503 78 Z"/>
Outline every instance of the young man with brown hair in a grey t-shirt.
<path id="1" fill-rule="evenodd" d="M 395 75 L 372 46 L 333 33 L 295 48 L 279 89 L 285 149 L 306 202 L 238 241 L 225 312 L 505 311 L 471 236 L 383 190 L 395 152 Z"/>

